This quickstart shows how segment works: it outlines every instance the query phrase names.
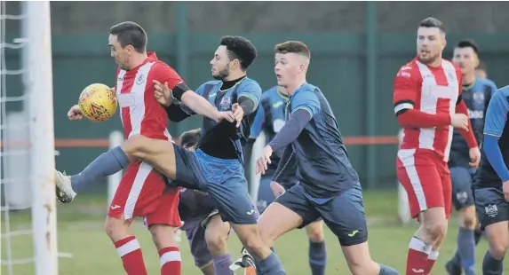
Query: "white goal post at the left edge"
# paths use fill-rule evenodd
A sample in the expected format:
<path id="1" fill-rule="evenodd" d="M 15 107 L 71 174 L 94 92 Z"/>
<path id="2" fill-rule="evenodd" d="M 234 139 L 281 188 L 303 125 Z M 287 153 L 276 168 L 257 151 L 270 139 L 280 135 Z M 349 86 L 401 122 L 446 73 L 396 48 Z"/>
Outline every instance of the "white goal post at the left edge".
<path id="1" fill-rule="evenodd" d="M 57 275 L 57 219 L 54 185 L 52 33 L 49 1 L 22 2 L 27 39 L 24 86 L 28 95 L 32 229 L 36 275 Z"/>

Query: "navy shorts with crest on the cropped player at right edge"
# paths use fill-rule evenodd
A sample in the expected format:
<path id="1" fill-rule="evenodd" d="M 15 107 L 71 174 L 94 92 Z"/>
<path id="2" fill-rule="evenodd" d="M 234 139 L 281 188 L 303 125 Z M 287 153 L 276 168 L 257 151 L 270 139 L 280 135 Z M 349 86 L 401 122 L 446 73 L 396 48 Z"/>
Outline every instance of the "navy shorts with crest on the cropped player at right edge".
<path id="1" fill-rule="evenodd" d="M 502 187 L 486 187 L 473 190 L 475 209 L 481 230 L 489 224 L 509 221 L 509 202 L 505 201 Z"/>

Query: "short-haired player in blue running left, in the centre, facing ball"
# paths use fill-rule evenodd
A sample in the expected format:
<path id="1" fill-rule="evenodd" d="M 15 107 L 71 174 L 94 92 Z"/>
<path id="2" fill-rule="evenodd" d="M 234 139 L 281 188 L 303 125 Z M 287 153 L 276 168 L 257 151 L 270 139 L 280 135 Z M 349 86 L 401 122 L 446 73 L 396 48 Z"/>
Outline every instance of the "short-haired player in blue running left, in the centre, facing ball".
<path id="1" fill-rule="evenodd" d="M 280 166 L 293 155 L 298 184 L 282 193 L 258 219 L 262 239 L 273 245 L 283 233 L 321 217 L 338 237 L 353 274 L 399 274 L 370 257 L 359 177 L 348 160 L 329 102 L 318 87 L 306 83 L 309 49 L 290 41 L 277 44 L 274 51 L 277 84 L 287 90 L 290 101 L 286 123 L 263 149 L 257 173 L 265 174 L 272 153 L 285 147 Z"/>

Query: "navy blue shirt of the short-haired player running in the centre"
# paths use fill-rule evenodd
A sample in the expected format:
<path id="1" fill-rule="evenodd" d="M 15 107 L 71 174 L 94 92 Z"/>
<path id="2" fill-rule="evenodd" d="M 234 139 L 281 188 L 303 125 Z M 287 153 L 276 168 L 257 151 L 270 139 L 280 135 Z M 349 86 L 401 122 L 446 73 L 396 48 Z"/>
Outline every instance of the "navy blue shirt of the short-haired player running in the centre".
<path id="1" fill-rule="evenodd" d="M 298 110 L 311 115 L 304 130 L 291 143 L 298 165 L 298 181 L 313 198 L 331 198 L 359 182 L 348 160 L 338 122 L 322 91 L 304 83 L 290 97 L 286 118 Z"/>

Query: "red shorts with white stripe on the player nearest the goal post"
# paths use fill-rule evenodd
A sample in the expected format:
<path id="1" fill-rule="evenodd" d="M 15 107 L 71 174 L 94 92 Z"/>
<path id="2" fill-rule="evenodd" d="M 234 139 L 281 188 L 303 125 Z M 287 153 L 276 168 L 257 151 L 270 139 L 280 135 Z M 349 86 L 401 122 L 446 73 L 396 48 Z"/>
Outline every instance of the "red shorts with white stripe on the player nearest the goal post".
<path id="1" fill-rule="evenodd" d="M 147 226 L 179 227 L 179 188 L 166 186 L 163 175 L 147 163 L 133 161 L 116 188 L 107 216 L 124 220 L 143 216 Z"/>

